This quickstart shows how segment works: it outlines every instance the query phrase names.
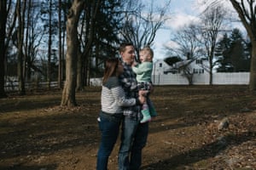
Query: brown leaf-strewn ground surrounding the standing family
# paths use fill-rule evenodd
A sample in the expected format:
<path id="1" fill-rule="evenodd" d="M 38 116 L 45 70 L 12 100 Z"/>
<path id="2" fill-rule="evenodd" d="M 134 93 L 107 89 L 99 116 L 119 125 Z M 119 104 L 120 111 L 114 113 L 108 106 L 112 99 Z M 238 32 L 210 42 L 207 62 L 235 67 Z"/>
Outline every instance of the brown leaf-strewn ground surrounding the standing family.
<path id="1" fill-rule="evenodd" d="M 58 106 L 61 93 L 0 99 L 0 169 L 93 170 L 100 141 L 100 88 Z M 155 87 L 144 170 L 256 167 L 256 97 L 245 86 Z M 218 130 L 223 118 L 229 127 Z M 117 169 L 119 141 L 109 160 Z"/>

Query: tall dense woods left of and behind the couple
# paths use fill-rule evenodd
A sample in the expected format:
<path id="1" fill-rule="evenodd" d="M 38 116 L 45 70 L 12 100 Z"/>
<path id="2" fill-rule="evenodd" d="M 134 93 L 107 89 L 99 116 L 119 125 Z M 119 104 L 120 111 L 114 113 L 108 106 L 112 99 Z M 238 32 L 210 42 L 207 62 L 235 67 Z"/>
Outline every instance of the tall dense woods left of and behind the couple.
<path id="1" fill-rule="evenodd" d="M 58 81 L 62 89 L 66 80 L 61 103 L 75 105 L 75 91 L 87 86 L 90 77 L 102 76 L 102 61 L 116 56 L 119 42 L 136 39 L 137 49 L 153 43 L 169 4 L 144 15 L 146 6 L 134 1 L 1 1 L 0 96 L 6 96 L 9 78 L 19 82 L 21 95 L 26 94 L 25 82 Z M 158 13 L 159 19 L 153 19 Z M 137 32 L 132 31 L 135 17 L 141 25 Z M 146 37 L 141 33 L 145 25 Z M 73 99 L 64 99 L 70 90 Z"/>

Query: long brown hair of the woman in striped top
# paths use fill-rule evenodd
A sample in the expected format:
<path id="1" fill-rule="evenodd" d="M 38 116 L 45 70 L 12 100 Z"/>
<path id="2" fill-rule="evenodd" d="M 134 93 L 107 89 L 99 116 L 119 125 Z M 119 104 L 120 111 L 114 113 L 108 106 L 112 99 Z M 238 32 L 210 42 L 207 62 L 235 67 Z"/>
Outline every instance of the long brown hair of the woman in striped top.
<path id="1" fill-rule="evenodd" d="M 117 71 L 118 65 L 119 65 L 118 58 L 109 58 L 106 60 L 105 71 L 104 71 L 102 83 L 107 82 L 109 77 L 116 76 L 116 71 Z"/>

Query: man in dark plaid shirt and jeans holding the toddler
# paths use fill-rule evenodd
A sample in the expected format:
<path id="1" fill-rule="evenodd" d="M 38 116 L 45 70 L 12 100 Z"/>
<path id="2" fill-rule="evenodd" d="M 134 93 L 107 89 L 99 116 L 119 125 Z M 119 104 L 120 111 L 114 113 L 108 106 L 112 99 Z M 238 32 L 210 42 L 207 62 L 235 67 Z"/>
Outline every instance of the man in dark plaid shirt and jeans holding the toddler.
<path id="1" fill-rule="evenodd" d="M 137 98 L 136 74 L 131 70 L 135 49 L 131 43 L 122 43 L 119 54 L 123 60 L 124 72 L 119 77 L 127 98 Z M 119 170 L 137 170 L 142 165 L 142 150 L 148 137 L 148 122 L 140 123 L 141 105 L 124 108 L 121 144 L 119 148 Z"/>

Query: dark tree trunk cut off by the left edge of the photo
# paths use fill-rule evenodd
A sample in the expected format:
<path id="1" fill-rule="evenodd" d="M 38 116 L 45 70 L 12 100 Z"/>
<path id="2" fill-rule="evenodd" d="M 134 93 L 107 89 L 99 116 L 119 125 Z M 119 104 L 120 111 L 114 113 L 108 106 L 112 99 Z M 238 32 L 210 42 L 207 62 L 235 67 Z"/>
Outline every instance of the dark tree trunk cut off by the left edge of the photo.
<path id="1" fill-rule="evenodd" d="M 4 98 L 7 95 L 4 91 L 4 62 L 5 62 L 5 29 L 7 19 L 7 0 L 1 0 L 0 2 L 0 98 Z"/>

